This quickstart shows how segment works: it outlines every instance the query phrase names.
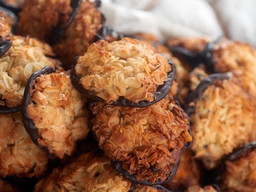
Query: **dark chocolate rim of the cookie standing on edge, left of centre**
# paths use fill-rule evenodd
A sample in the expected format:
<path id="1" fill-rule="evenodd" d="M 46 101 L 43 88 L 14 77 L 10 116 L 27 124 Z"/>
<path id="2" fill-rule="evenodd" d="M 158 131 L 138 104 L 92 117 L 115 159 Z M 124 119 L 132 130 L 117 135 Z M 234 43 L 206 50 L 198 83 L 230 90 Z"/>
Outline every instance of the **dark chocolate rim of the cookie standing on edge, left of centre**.
<path id="1" fill-rule="evenodd" d="M 35 79 L 40 75 L 54 73 L 55 71 L 56 68 L 46 66 L 42 70 L 38 70 L 32 73 L 32 75 L 29 77 L 29 80 L 27 81 L 23 95 L 23 102 L 21 105 L 21 116 L 24 128 L 26 129 L 27 133 L 29 134 L 35 145 L 37 145 L 39 148 L 43 149 L 46 152 L 48 152 L 48 148 L 38 143 L 38 139 L 41 138 L 41 136 L 39 135 L 38 128 L 35 127 L 35 123 L 32 119 L 29 118 L 28 105 L 30 103 L 31 90 L 34 87 Z"/>

